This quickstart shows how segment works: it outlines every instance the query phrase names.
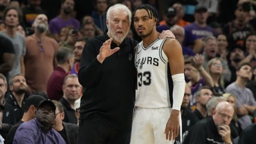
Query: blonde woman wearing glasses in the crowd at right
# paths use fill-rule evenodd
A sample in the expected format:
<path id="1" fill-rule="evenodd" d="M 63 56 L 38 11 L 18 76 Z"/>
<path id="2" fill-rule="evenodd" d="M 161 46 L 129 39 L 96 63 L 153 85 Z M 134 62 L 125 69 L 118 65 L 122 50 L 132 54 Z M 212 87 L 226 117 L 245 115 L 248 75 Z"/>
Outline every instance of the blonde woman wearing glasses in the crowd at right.
<path id="1" fill-rule="evenodd" d="M 221 96 L 225 93 L 223 80 L 223 64 L 220 58 L 213 58 L 207 63 L 207 72 L 211 75 L 214 86 L 211 88 L 213 95 Z"/>

